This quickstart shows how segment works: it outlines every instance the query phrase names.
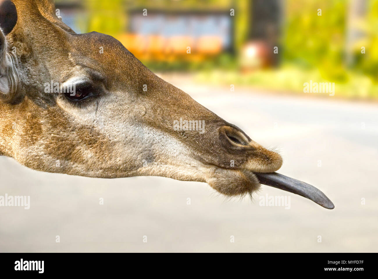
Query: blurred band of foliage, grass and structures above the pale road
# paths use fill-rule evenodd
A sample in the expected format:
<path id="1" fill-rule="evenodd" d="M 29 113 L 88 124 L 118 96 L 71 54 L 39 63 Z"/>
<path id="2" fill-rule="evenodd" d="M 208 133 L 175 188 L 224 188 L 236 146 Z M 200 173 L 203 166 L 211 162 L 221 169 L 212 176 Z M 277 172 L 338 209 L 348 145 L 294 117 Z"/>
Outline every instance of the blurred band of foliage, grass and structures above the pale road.
<path id="1" fill-rule="evenodd" d="M 153 71 L 301 95 L 304 82 L 335 82 L 336 98 L 378 98 L 376 0 L 56 3 L 77 33 L 111 34 Z"/>

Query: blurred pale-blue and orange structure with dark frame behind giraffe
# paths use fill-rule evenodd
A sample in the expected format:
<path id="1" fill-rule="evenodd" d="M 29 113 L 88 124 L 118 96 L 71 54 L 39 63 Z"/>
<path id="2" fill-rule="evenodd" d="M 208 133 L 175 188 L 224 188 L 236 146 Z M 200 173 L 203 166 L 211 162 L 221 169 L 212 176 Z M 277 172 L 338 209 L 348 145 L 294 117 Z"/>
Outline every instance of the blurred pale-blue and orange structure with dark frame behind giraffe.
<path id="1" fill-rule="evenodd" d="M 133 10 L 129 22 L 119 40 L 142 59 L 202 60 L 232 50 L 232 20 L 226 12 L 148 10 L 144 16 Z"/>

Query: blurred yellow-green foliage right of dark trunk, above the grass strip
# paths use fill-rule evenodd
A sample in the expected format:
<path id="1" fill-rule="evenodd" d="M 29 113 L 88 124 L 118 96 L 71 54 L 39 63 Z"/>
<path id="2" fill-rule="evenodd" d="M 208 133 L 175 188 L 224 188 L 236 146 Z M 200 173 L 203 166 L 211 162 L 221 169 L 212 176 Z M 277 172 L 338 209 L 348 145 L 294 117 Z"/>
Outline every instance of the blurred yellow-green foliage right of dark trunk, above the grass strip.
<path id="1" fill-rule="evenodd" d="M 305 69 L 316 68 L 322 78 L 349 82 L 356 75 L 369 76 L 378 82 L 378 1 L 366 4 L 365 15 L 352 23 L 350 2 L 342 0 L 298 1 L 285 5 L 287 22 L 283 33 L 283 61 Z M 322 15 L 316 11 L 321 8 Z M 348 42 L 348 28 L 362 36 Z M 352 49 L 351 62 L 348 61 Z M 365 53 L 361 53 L 361 48 Z"/>

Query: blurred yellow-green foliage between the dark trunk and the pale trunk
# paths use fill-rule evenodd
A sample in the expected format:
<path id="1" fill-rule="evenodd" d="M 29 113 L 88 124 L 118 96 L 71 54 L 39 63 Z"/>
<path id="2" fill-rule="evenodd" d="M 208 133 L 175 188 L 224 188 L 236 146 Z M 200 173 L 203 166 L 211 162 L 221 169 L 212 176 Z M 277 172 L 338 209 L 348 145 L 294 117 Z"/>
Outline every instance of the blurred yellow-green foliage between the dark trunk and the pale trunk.
<path id="1" fill-rule="evenodd" d="M 316 67 L 325 79 L 345 80 L 346 5 L 342 0 L 288 0 L 283 33 L 285 59 L 303 67 Z"/>

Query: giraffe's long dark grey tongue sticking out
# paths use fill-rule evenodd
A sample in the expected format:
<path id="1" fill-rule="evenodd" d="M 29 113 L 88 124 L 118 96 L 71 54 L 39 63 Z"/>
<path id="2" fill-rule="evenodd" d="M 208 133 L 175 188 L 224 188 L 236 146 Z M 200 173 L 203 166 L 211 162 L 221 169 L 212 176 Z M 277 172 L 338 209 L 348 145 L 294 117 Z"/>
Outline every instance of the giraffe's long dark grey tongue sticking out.
<path id="1" fill-rule="evenodd" d="M 279 174 L 277 172 L 254 172 L 261 184 L 272 186 L 308 198 L 327 209 L 335 208 L 327 196 L 318 188 L 303 181 Z"/>

